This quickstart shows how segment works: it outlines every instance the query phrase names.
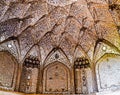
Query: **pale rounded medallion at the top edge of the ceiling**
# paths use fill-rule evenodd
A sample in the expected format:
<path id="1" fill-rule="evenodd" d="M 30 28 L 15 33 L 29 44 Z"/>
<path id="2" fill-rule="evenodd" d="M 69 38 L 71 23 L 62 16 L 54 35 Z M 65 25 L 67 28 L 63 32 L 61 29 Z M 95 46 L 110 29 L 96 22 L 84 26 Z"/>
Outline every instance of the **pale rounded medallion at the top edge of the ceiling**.
<path id="1" fill-rule="evenodd" d="M 51 4 L 54 6 L 66 6 L 66 5 L 72 4 L 77 0 L 46 0 L 46 1 L 48 4 Z"/>

